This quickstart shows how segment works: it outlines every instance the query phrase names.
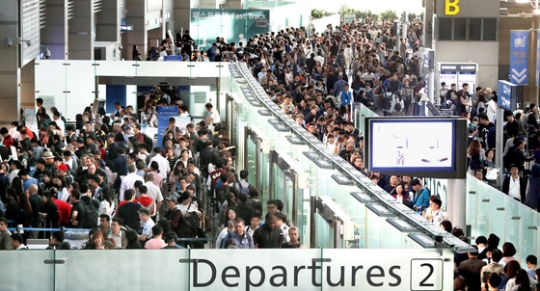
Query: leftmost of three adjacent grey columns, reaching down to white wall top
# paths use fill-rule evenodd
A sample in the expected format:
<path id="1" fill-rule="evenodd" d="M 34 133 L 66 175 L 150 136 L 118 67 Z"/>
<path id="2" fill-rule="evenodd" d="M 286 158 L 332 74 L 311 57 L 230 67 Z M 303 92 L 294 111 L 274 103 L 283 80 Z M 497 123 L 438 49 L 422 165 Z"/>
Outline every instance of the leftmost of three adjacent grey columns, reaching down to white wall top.
<path id="1" fill-rule="evenodd" d="M 94 59 L 94 5 L 93 0 L 73 1 L 73 18 L 69 20 L 70 60 Z M 104 1 L 106 2 L 106 1 Z"/>

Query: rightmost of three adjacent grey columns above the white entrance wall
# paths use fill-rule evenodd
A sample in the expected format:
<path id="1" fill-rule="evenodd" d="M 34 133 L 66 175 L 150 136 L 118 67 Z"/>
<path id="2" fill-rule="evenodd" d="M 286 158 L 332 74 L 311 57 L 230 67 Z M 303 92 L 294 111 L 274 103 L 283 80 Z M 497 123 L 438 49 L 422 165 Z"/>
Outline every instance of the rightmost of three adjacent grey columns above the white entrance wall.
<path id="1" fill-rule="evenodd" d="M 133 25 L 132 32 L 122 34 L 122 42 L 125 43 L 122 55 L 126 60 L 132 60 L 131 51 L 134 45 L 139 46 L 141 58 L 146 60 L 148 53 L 148 33 L 146 31 L 146 1 L 126 0 L 127 15 L 126 24 Z"/>

